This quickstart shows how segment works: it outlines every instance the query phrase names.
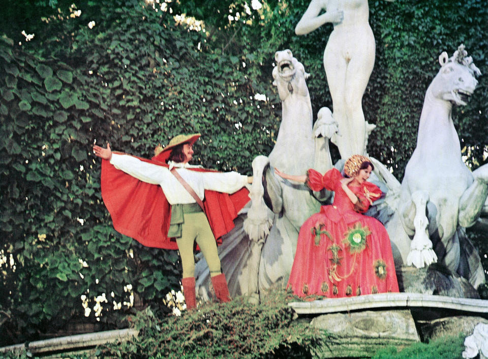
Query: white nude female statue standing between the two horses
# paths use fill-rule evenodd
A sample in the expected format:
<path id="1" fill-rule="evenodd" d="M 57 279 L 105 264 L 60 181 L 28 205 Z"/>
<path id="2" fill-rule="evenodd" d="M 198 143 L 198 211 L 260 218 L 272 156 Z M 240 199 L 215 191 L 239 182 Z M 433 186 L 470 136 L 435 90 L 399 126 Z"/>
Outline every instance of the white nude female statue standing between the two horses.
<path id="1" fill-rule="evenodd" d="M 322 10 L 325 13 L 319 15 Z M 362 154 L 365 148 L 361 101 L 376 50 L 368 19 L 368 0 L 312 0 L 295 27 L 297 35 L 305 35 L 326 22 L 334 26 L 325 46 L 324 68 L 342 135 L 337 143 L 342 158 Z"/>

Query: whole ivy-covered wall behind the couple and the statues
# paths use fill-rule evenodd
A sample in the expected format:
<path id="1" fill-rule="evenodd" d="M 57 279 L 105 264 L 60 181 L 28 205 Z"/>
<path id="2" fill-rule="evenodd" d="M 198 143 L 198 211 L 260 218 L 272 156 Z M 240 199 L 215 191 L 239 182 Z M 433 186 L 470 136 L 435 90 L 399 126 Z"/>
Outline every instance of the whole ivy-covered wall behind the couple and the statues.
<path id="1" fill-rule="evenodd" d="M 234 20 L 215 15 L 201 24 L 205 32 L 174 17 L 196 12 L 193 2 L 162 4 L 156 12 L 128 1 L 93 28 L 91 18 L 52 18 L 44 26 L 57 36 L 0 41 L 0 345 L 78 319 L 121 326 L 132 304 L 164 310 L 166 293 L 179 288 L 176 252 L 113 230 L 95 141 L 150 157 L 158 143 L 200 132 L 200 164 L 250 174 L 252 158 L 268 154 L 277 135 L 271 71 L 275 51 L 286 48 L 312 74 L 315 113 L 331 108 L 322 65 L 331 26 L 302 37 L 293 31 L 308 1 L 262 2 L 249 14 L 243 2 L 220 4 Z M 488 10 L 480 0 L 398 0 L 371 1 L 370 12 L 377 57 L 363 108 L 377 129 L 368 149 L 401 179 L 439 54 L 464 43 L 488 73 Z M 473 168 L 486 162 L 486 83 L 481 77 L 470 104 L 453 114 Z"/>

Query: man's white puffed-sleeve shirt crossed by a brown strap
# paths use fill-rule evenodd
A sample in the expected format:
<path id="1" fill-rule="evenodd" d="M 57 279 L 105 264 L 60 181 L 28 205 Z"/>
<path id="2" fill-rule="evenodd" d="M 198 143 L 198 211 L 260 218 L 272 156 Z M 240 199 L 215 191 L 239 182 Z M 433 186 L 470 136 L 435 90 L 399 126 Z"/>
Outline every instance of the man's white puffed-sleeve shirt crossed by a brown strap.
<path id="1" fill-rule="evenodd" d="M 164 166 L 144 162 L 131 155 L 117 153 L 112 153 L 110 163 L 116 169 L 124 171 L 143 182 L 159 184 L 170 205 L 195 203 L 192 195 Z M 178 174 L 193 188 L 201 200 L 204 198 L 205 189 L 234 193 L 248 183 L 248 177 L 237 172 L 192 171 L 189 168 L 198 166 L 171 161 L 168 165 L 170 168 L 176 167 Z"/>

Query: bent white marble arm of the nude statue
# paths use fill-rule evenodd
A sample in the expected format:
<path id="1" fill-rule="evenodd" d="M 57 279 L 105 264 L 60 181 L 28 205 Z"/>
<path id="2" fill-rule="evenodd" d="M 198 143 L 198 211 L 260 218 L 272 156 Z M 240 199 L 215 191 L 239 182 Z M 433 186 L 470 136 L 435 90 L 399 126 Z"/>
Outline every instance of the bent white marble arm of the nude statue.
<path id="1" fill-rule="evenodd" d="M 303 14 L 300 21 L 296 24 L 295 34 L 305 35 L 312 32 L 316 28 L 322 26 L 326 22 L 338 24 L 344 19 L 344 12 L 342 10 L 326 10 L 325 13 L 319 15 L 322 11 L 321 0 L 312 0 Z"/>

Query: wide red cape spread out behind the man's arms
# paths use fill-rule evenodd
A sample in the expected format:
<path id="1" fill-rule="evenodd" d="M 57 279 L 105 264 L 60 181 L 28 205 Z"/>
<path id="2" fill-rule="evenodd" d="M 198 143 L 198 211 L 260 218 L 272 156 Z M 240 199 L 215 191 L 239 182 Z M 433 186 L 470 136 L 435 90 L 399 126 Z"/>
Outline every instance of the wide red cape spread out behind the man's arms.
<path id="1" fill-rule="evenodd" d="M 168 167 L 158 160 L 137 157 L 145 162 Z M 204 169 L 192 169 L 206 171 Z M 112 217 L 114 229 L 147 247 L 178 249 L 176 240 L 168 238 L 171 206 L 163 189 L 117 170 L 102 160 L 102 198 Z M 203 205 L 217 243 L 234 227 L 237 213 L 250 201 L 249 191 L 241 188 L 233 194 L 205 190 Z"/>

